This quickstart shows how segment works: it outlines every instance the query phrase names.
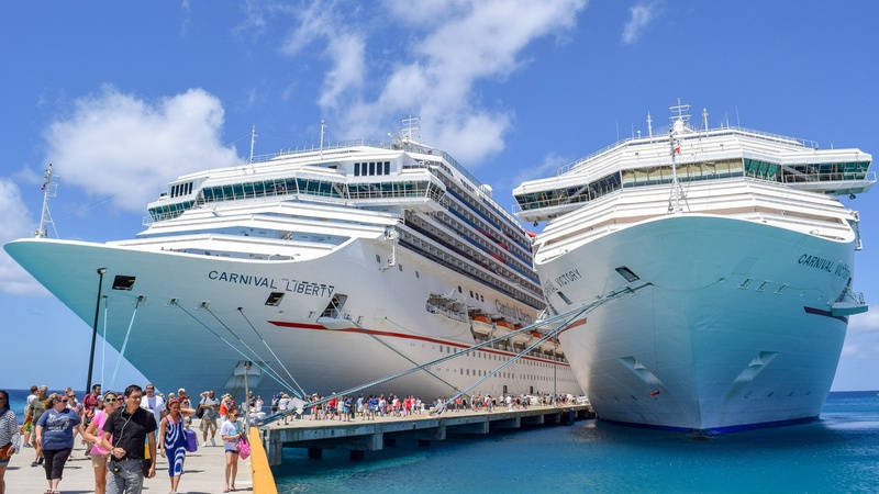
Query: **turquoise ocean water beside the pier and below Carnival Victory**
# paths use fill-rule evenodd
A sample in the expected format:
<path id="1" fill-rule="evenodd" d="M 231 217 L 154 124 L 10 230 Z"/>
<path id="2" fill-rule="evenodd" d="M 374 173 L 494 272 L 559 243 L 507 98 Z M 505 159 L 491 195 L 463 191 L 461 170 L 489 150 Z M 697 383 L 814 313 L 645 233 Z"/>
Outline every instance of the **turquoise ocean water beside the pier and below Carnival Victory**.
<path id="1" fill-rule="evenodd" d="M 286 449 L 280 492 L 879 492 L 879 396 L 831 393 L 821 419 L 697 439 L 602 422 L 309 460 Z"/>

